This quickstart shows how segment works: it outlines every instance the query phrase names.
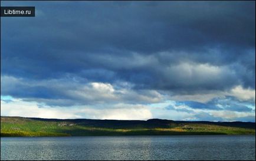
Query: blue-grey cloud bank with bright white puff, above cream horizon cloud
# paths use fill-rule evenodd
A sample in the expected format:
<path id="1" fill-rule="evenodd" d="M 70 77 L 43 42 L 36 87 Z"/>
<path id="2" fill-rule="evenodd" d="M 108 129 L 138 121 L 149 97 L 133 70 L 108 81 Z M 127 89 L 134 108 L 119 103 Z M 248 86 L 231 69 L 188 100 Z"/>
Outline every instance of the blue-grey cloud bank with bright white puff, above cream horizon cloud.
<path id="1" fill-rule="evenodd" d="M 120 102 L 153 103 L 160 102 L 163 99 L 162 95 L 156 90 L 133 90 L 132 88 L 126 88 L 126 86 L 112 85 L 110 83 L 79 82 L 74 78 L 33 81 L 1 75 L 1 87 L 2 95 L 12 93 L 14 98 L 19 96 L 21 99 L 46 103 L 50 106 Z M 41 96 L 41 90 L 47 90 L 47 96 L 53 96 L 54 99 L 44 98 L 44 95 Z M 40 96 L 38 97 L 38 95 Z M 22 96 L 24 97 L 22 98 Z M 62 102 L 68 103 L 64 105 Z"/>

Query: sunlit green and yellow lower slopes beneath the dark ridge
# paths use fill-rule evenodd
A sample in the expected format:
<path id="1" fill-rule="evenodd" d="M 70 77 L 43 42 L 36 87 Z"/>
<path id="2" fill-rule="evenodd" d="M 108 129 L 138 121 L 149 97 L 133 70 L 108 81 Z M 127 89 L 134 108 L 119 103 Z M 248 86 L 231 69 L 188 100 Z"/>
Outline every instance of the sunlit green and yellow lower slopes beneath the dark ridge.
<path id="1" fill-rule="evenodd" d="M 2 118 L 1 136 L 90 136 L 90 135 L 255 135 L 255 129 L 207 124 L 175 124 L 169 128 L 101 128 L 71 122 L 26 118 Z"/>

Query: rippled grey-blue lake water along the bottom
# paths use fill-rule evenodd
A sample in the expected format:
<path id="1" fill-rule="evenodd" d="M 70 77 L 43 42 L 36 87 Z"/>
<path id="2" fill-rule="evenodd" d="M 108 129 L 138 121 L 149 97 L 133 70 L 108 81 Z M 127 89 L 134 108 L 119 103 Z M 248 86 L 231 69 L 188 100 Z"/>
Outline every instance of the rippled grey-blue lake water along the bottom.
<path id="1" fill-rule="evenodd" d="M 1 137 L 1 160 L 255 160 L 255 136 Z"/>

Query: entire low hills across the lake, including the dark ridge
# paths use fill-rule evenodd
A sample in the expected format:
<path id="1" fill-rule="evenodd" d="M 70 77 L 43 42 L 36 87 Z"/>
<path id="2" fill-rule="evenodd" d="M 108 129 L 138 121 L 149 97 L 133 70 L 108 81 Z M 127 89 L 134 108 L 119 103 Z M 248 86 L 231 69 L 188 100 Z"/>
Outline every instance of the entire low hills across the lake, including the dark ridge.
<path id="1" fill-rule="evenodd" d="M 255 123 L 37 119 L 1 116 L 1 136 L 255 135 Z"/>

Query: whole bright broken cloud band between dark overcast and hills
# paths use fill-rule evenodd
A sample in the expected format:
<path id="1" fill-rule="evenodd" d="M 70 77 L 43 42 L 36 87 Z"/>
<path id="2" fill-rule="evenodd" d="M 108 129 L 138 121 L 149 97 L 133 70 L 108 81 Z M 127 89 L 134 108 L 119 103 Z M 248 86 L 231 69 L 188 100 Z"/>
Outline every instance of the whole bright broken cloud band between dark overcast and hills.
<path id="1" fill-rule="evenodd" d="M 212 70 L 215 71 L 215 69 Z M 186 105 L 175 105 L 176 100 L 208 102 L 212 98 L 225 98 L 225 96 L 235 96 L 239 100 L 255 101 L 255 90 L 244 89 L 242 86 L 235 86 L 235 88 L 227 92 L 210 91 L 201 95 L 175 96 L 160 94 L 157 90 L 133 90 L 132 88 L 126 88 L 126 86 L 116 86 L 102 82 L 82 84 L 79 81 L 72 82 L 64 78 L 40 80 L 31 83 L 25 79 L 1 76 L 1 86 L 4 86 L 4 90 L 11 90 L 12 92 L 20 86 L 22 86 L 22 89 L 27 90 L 31 87 L 41 86 L 53 89 L 64 96 L 63 99 L 17 99 L 3 95 L 1 96 L 1 115 L 5 116 L 120 120 L 146 120 L 150 118 L 198 120 L 200 119 L 199 117 L 206 116 L 212 117 L 212 120 L 219 118 L 235 120 L 236 118 L 255 116 L 253 112 L 204 110 L 193 109 Z M 80 102 L 80 104 L 74 105 L 76 101 Z M 172 108 L 166 108 L 168 106 Z M 255 112 L 255 106 L 251 108 Z M 205 115 L 205 113 L 209 115 Z"/>

